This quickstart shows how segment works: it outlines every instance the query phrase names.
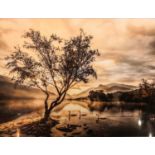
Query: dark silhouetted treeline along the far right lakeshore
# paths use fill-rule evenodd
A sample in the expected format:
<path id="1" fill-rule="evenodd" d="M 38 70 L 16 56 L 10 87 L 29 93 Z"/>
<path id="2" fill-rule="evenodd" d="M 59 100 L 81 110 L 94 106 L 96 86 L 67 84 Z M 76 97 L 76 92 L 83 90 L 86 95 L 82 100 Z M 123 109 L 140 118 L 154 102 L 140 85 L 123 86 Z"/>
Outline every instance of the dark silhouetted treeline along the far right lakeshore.
<path id="1" fill-rule="evenodd" d="M 90 91 L 88 98 L 91 101 L 114 101 L 116 93 L 105 94 L 103 90 Z M 155 104 L 155 83 L 142 80 L 139 88 L 129 92 L 119 92 L 119 101 L 145 102 Z"/>

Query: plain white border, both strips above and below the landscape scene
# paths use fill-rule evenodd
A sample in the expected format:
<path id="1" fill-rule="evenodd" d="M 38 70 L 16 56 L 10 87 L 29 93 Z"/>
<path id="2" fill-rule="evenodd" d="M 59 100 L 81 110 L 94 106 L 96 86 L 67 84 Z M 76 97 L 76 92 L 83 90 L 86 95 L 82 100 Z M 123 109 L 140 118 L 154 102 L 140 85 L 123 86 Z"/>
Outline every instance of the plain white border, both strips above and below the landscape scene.
<path id="1" fill-rule="evenodd" d="M 4 0 L 0 18 L 154 18 L 154 0 Z M 0 138 L 4 155 L 153 154 L 154 138 Z"/>

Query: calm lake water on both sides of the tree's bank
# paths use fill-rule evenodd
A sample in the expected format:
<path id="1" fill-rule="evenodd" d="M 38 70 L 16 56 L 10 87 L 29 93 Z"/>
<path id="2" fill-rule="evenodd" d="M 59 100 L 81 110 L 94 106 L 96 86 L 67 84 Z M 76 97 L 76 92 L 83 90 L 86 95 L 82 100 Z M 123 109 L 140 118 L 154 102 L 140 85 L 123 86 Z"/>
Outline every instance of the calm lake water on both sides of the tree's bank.
<path id="1" fill-rule="evenodd" d="M 42 102 L 42 100 L 11 100 L 7 101 L 7 104 L 1 102 L 0 126 L 16 119 L 20 120 L 23 116 L 28 117 L 36 111 L 42 111 Z M 55 109 L 52 117 L 59 120 L 59 124 L 51 128 L 50 136 L 155 136 L 154 113 L 141 109 L 131 111 L 112 107 L 98 112 L 90 111 L 85 102 L 66 101 Z"/>

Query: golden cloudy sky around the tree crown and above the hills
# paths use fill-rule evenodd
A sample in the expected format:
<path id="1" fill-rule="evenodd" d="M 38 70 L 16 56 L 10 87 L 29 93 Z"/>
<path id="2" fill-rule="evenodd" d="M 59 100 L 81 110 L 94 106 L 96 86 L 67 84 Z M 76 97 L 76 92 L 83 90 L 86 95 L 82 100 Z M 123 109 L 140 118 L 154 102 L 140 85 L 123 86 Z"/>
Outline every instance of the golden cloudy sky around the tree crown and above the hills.
<path id="1" fill-rule="evenodd" d="M 94 62 L 98 79 L 79 90 L 114 82 L 136 85 L 155 77 L 155 19 L 0 19 L 1 75 L 8 76 L 4 57 L 22 44 L 21 36 L 30 28 L 66 39 L 80 28 L 94 36 L 92 46 L 101 51 Z"/>

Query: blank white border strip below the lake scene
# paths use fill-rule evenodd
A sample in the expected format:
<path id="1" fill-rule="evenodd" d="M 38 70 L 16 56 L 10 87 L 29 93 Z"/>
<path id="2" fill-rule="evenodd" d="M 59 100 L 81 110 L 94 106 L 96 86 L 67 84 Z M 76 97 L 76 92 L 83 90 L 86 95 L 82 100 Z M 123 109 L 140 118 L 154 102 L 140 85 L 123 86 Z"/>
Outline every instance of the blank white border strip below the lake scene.
<path id="1" fill-rule="evenodd" d="M 154 138 L 1 138 L 5 155 L 150 155 Z"/>

